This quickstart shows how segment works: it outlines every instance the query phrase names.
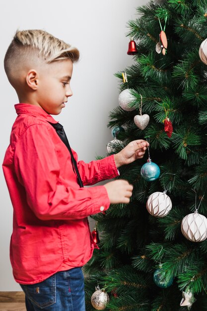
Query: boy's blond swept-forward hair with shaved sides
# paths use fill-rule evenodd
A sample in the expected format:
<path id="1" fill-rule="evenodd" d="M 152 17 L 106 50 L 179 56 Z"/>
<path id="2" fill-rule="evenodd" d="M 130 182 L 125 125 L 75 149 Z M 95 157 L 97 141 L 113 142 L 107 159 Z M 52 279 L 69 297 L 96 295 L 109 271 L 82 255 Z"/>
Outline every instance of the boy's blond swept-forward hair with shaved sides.
<path id="1" fill-rule="evenodd" d="M 13 65 L 24 63 L 28 58 L 37 56 L 45 63 L 69 59 L 72 63 L 79 59 L 79 51 L 50 33 L 39 30 L 16 31 L 4 57 L 7 77 Z"/>

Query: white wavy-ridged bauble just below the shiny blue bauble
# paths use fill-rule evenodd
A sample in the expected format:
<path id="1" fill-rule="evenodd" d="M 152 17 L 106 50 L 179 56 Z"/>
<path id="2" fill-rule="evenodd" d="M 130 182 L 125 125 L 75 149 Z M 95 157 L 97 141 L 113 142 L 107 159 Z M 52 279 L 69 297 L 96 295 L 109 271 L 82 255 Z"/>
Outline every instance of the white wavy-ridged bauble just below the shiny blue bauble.
<path id="1" fill-rule="evenodd" d="M 146 202 L 146 209 L 152 216 L 164 217 L 172 208 L 172 201 L 165 192 L 152 193 Z"/>

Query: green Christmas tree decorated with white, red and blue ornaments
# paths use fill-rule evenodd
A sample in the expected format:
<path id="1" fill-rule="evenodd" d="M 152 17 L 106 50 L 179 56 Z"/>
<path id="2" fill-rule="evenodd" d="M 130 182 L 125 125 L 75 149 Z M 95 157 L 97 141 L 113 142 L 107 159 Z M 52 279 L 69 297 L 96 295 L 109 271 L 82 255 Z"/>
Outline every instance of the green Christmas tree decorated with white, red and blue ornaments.
<path id="1" fill-rule="evenodd" d="M 130 204 L 93 216 L 101 241 L 84 267 L 86 309 L 207 311 L 207 0 L 150 1 L 137 12 L 108 151 L 147 139 L 150 156 L 120 167 L 134 185 Z M 149 157 L 160 168 L 152 181 Z M 105 309 L 91 305 L 97 283 Z"/>

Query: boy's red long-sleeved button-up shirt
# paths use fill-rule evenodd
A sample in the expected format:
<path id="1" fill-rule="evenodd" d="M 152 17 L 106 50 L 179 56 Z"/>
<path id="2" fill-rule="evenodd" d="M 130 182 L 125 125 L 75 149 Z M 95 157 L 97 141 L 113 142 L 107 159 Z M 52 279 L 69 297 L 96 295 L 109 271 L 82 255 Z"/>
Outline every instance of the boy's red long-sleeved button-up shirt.
<path id="1" fill-rule="evenodd" d="M 71 158 L 42 108 L 16 104 L 3 172 L 13 205 L 10 260 L 20 284 L 34 284 L 63 270 L 80 267 L 97 245 L 87 216 L 107 210 L 104 186 L 80 188 Z M 74 151 L 73 155 L 77 160 Z M 114 156 L 77 161 L 84 185 L 118 175 Z"/>

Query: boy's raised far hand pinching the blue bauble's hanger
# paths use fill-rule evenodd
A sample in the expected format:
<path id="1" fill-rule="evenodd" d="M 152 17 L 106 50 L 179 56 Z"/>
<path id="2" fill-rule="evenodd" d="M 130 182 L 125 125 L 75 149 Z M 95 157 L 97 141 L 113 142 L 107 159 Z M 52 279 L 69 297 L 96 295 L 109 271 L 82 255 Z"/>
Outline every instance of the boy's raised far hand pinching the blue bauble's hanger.
<path id="1" fill-rule="evenodd" d="M 142 158 L 148 146 L 149 143 L 142 139 L 129 143 L 122 151 L 114 155 L 117 168 Z"/>

